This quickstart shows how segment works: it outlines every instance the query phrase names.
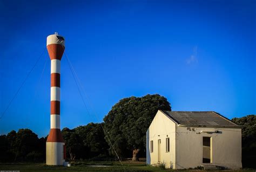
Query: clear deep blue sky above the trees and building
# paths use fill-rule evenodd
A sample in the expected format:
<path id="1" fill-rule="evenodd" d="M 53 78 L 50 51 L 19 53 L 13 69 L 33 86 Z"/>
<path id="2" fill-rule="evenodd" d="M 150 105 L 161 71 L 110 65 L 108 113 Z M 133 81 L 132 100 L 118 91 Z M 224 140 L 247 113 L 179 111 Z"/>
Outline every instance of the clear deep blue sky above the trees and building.
<path id="1" fill-rule="evenodd" d="M 100 122 L 118 100 L 156 93 L 169 100 L 173 111 L 216 111 L 230 119 L 255 114 L 255 5 L 0 1 L 0 112 L 45 49 L 46 37 L 57 31 L 89 97 L 87 113 L 63 57 L 62 128 Z M 0 134 L 19 128 L 49 133 L 46 51 L 0 120 Z"/>

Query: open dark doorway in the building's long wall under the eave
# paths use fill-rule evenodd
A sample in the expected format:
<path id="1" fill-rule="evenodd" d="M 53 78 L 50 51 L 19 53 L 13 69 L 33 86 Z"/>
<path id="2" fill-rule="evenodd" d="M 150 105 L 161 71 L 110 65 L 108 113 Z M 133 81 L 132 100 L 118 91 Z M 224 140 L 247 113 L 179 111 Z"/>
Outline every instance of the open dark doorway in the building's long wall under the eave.
<path id="1" fill-rule="evenodd" d="M 212 137 L 203 137 L 203 163 L 212 163 Z"/>

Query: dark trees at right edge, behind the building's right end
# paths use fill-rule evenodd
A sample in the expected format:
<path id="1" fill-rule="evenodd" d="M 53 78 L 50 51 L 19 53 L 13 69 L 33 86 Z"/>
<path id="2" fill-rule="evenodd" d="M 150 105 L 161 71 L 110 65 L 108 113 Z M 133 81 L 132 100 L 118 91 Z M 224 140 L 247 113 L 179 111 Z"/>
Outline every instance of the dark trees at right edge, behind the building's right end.
<path id="1" fill-rule="evenodd" d="M 232 121 L 242 126 L 242 166 L 256 168 L 256 115 L 233 118 Z"/>

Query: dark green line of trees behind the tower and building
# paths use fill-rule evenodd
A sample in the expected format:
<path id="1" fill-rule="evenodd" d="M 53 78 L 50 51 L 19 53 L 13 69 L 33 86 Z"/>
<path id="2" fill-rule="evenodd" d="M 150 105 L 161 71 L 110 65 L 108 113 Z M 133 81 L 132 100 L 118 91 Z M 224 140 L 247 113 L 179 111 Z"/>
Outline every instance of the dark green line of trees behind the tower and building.
<path id="1" fill-rule="evenodd" d="M 171 111 L 166 98 L 154 94 L 120 100 L 102 123 L 89 123 L 73 129 L 63 128 L 62 135 L 69 160 L 114 160 L 146 156 L 146 130 L 158 109 Z M 242 125 L 242 164 L 255 168 L 256 115 L 232 119 Z M 104 128 L 104 129 L 103 129 Z M 107 135 L 107 136 L 106 136 Z M 0 135 L 0 161 L 45 161 L 46 137 L 38 138 L 30 129 L 12 130 Z M 110 143 L 111 142 L 111 143 Z"/>

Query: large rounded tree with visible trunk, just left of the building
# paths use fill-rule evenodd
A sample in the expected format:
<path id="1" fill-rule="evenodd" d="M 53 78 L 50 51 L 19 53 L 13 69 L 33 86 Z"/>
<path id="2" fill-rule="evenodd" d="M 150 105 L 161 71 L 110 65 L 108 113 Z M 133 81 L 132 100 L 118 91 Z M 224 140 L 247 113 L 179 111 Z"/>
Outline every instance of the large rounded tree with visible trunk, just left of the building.
<path id="1" fill-rule="evenodd" d="M 132 160 L 138 161 L 139 151 L 146 149 L 146 130 L 158 110 L 171 111 L 167 99 L 158 94 L 125 98 L 112 107 L 104 118 L 105 129 L 120 156 L 127 156 L 129 150 Z"/>

